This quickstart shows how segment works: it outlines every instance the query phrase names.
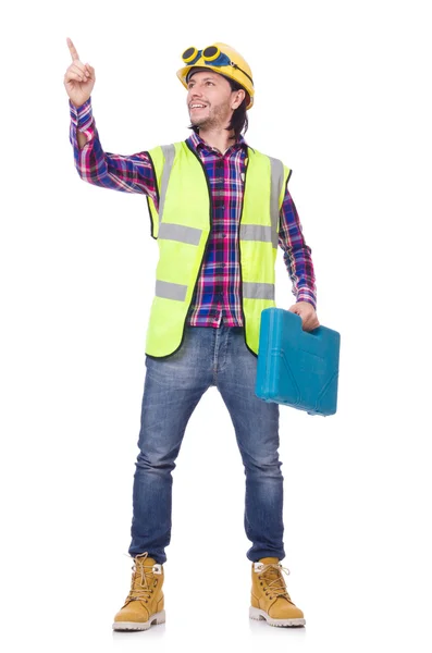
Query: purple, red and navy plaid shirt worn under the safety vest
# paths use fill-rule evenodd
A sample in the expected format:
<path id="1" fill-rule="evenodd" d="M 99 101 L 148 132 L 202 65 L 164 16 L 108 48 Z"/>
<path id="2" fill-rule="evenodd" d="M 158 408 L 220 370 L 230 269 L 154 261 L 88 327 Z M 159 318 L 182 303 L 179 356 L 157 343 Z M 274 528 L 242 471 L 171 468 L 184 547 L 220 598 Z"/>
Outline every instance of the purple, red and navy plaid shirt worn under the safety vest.
<path id="1" fill-rule="evenodd" d="M 91 98 L 76 109 L 70 101 L 70 140 L 74 148 L 76 170 L 86 182 L 151 197 L 156 208 L 156 180 L 148 152 L 132 156 L 114 155 L 102 150 Z M 76 128 L 87 137 L 79 150 Z M 186 143 L 200 157 L 210 180 L 213 229 L 195 288 L 187 317 L 194 326 L 243 326 L 240 303 L 240 269 L 238 224 L 243 204 L 246 173 L 247 144 L 243 136 L 223 155 L 193 133 Z M 279 245 L 292 280 L 296 301 L 308 301 L 317 308 L 317 288 L 311 249 L 306 245 L 296 207 L 286 190 L 281 209 Z"/>

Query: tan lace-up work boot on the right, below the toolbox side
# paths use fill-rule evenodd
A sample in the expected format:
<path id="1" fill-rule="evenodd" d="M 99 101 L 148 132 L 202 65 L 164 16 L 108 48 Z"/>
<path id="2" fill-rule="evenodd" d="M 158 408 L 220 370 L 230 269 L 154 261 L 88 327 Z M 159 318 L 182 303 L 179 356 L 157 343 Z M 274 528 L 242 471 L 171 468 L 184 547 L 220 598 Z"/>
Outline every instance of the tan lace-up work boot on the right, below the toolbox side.
<path id="1" fill-rule="evenodd" d="M 283 567 L 276 557 L 252 563 L 249 617 L 266 619 L 270 626 L 305 626 L 305 615 L 286 590 L 283 570 L 289 574 L 289 569 Z"/>

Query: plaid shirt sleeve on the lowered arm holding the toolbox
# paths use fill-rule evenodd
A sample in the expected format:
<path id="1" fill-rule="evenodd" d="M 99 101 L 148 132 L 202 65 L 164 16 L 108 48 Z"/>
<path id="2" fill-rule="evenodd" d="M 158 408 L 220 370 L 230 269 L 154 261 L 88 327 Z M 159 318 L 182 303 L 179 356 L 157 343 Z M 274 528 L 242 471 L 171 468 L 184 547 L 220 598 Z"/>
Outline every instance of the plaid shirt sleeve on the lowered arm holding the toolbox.
<path id="1" fill-rule="evenodd" d="M 284 251 L 296 301 L 308 301 L 317 309 L 312 250 L 305 242 L 297 209 L 287 188 L 280 213 L 279 245 Z"/>

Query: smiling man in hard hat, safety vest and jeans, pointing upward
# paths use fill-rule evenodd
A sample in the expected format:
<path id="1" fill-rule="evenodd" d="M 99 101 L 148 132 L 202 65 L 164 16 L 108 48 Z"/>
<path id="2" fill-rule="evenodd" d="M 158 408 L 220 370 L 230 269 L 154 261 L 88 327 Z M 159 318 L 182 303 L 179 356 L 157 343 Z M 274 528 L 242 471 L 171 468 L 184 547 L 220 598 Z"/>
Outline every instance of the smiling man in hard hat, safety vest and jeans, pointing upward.
<path id="1" fill-rule="evenodd" d="M 146 342 L 146 379 L 133 488 L 131 591 L 115 630 L 145 630 L 165 619 L 162 584 L 171 539 L 172 470 L 202 394 L 218 387 L 230 411 L 246 473 L 245 531 L 252 546 L 249 616 L 303 626 L 280 560 L 283 476 L 279 405 L 255 394 L 259 320 L 274 304 L 277 244 L 293 282 L 303 328 L 319 326 L 311 249 L 287 189 L 291 171 L 246 144 L 254 104 L 249 65 L 217 42 L 188 48 L 177 76 L 187 89 L 193 134 L 125 157 L 102 150 L 91 112 L 95 69 L 72 64 L 64 85 L 79 176 L 146 195 L 160 258 Z"/>

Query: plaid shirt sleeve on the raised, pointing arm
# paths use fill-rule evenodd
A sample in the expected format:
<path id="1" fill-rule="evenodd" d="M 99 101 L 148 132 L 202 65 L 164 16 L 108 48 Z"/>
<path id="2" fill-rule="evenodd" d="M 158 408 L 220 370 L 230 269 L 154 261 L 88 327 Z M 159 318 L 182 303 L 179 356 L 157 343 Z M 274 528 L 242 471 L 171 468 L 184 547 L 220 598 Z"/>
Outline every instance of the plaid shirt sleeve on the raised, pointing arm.
<path id="1" fill-rule="evenodd" d="M 131 156 L 114 155 L 102 149 L 91 109 L 91 97 L 81 107 L 69 100 L 70 141 L 74 149 L 75 168 L 85 182 L 124 193 L 141 193 L 151 197 L 158 209 L 158 193 L 153 165 L 147 151 Z M 79 149 L 76 132 L 87 137 Z"/>

